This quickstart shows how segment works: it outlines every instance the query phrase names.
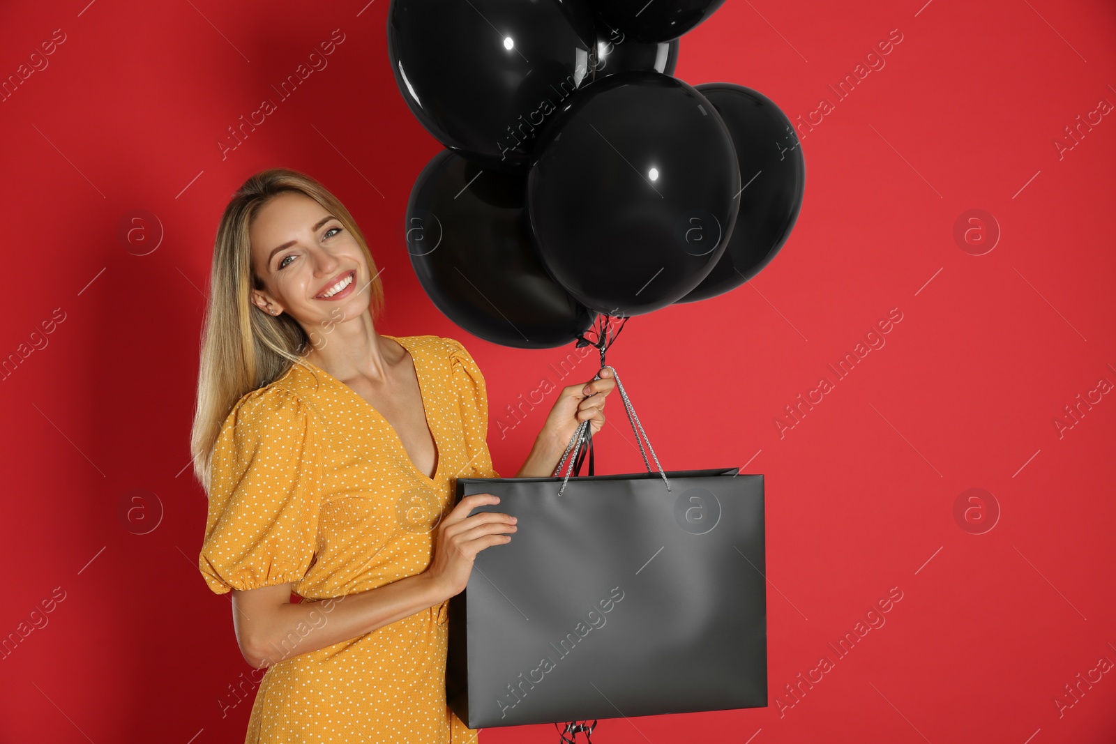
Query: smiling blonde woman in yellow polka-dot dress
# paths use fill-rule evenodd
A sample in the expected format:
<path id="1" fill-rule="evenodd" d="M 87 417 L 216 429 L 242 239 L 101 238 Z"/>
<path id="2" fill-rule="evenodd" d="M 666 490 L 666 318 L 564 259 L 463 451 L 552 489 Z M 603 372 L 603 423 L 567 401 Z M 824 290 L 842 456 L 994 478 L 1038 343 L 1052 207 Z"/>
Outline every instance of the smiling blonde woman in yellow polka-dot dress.
<path id="1" fill-rule="evenodd" d="M 218 228 L 194 471 L 199 568 L 232 592 L 259 680 L 246 742 L 475 742 L 445 704 L 450 597 L 516 520 L 452 509 L 454 479 L 499 477 L 484 378 L 439 336 L 381 334 L 379 272 L 341 203 L 289 170 L 253 175 Z M 600 379 L 561 390 L 518 476 L 549 476 Z M 301 601 L 292 602 L 292 595 Z"/>

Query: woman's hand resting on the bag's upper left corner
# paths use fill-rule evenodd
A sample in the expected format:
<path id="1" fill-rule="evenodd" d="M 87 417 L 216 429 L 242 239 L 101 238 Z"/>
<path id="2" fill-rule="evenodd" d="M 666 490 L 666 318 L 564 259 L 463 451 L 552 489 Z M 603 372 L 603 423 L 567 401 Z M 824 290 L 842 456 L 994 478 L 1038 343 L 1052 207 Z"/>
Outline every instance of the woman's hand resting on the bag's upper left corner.
<path id="1" fill-rule="evenodd" d="M 458 502 L 434 530 L 434 555 L 426 573 L 437 582 L 445 598 L 461 593 L 469 583 L 477 553 L 491 545 L 511 541 L 516 518 L 502 512 L 469 512 L 483 504 L 498 504 L 491 493 L 474 493 Z"/>

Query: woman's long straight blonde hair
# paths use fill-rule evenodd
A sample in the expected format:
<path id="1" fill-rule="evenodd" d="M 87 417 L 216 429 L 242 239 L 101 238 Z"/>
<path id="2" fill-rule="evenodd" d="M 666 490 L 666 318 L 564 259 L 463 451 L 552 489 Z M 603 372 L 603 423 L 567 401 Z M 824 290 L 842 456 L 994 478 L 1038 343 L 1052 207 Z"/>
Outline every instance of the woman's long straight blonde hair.
<path id="1" fill-rule="evenodd" d="M 271 316 L 250 300 L 252 289 L 264 289 L 252 271 L 250 229 L 264 204 L 289 192 L 312 199 L 349 231 L 373 276 L 373 320 L 384 308 L 376 262 L 353 215 L 336 196 L 310 176 L 288 168 L 260 171 L 244 182 L 225 206 L 217 229 L 203 321 L 190 451 L 194 475 L 206 492 L 213 446 L 233 406 L 246 394 L 281 377 L 292 364 L 306 364 L 301 355 L 310 339 L 298 321 L 286 312 Z"/>

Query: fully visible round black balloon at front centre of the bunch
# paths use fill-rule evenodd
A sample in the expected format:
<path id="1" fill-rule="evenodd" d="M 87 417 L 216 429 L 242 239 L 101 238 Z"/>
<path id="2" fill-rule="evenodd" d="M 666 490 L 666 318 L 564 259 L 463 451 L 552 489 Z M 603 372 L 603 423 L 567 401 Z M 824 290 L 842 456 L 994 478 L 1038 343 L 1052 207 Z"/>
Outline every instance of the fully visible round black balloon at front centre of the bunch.
<path id="1" fill-rule="evenodd" d="M 740 170 L 712 104 L 658 73 L 617 73 L 570 97 L 528 178 L 536 248 L 586 307 L 636 316 L 685 296 L 720 259 Z"/>

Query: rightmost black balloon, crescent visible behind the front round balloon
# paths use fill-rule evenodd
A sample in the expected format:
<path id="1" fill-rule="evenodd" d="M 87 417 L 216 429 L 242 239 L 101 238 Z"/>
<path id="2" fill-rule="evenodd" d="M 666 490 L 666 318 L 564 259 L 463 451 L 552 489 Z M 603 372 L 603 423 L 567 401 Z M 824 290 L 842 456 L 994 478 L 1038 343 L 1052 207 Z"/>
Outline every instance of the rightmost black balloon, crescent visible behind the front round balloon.
<path id="1" fill-rule="evenodd" d="M 806 162 L 795 129 L 761 93 L 732 83 L 696 86 L 724 120 L 740 165 L 737 226 L 709 276 L 679 302 L 704 300 L 754 277 L 787 242 L 798 220 Z"/>

